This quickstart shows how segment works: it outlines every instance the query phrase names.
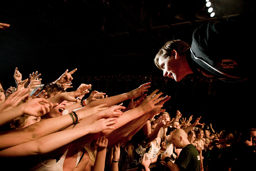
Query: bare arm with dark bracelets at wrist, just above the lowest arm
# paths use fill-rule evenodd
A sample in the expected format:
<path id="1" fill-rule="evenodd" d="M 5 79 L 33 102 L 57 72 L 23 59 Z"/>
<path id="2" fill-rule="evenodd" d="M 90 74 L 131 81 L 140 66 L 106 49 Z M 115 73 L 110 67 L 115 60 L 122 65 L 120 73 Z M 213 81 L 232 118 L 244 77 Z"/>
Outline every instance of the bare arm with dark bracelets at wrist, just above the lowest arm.
<path id="1" fill-rule="evenodd" d="M 102 104 L 90 108 L 89 110 L 76 112 L 78 120 L 82 121 L 88 115 L 92 115 L 97 113 L 98 111 L 105 110 L 107 107 L 104 106 L 105 104 Z M 96 119 L 94 121 L 101 119 L 102 117 L 108 117 L 111 115 L 107 115 L 107 112 L 104 114 L 105 115 L 101 114 L 100 116 L 95 117 Z M 85 118 L 85 120 L 88 119 Z M 92 122 L 90 122 L 89 124 L 91 123 Z M 24 142 L 35 140 L 37 138 L 46 136 L 50 133 L 59 131 L 62 128 L 68 127 L 69 125 L 70 129 L 74 127 L 72 117 L 70 115 L 63 115 L 60 117 L 53 117 L 41 120 L 40 122 L 34 123 L 22 129 L 5 132 L 4 134 L 0 135 L 0 149 L 9 148 Z"/>

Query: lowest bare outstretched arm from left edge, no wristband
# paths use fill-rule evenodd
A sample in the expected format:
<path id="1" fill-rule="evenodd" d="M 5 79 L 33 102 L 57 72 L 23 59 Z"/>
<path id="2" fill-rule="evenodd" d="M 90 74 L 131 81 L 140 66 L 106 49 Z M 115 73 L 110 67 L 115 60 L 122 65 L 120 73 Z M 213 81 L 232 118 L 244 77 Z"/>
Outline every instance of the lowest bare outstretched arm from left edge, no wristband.
<path id="1" fill-rule="evenodd" d="M 74 129 L 55 132 L 33 141 L 25 142 L 11 148 L 0 151 L 0 157 L 21 157 L 36 154 L 45 154 L 58 149 L 86 134 L 93 134 L 105 129 L 115 129 L 112 127 L 115 118 L 100 119 L 90 125 L 84 125 Z"/>

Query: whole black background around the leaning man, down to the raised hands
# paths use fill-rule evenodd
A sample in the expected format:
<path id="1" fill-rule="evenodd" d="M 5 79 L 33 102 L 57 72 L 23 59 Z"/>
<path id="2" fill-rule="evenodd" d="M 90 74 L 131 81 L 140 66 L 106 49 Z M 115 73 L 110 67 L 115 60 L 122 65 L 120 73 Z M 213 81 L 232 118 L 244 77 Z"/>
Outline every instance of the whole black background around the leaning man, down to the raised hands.
<path id="1" fill-rule="evenodd" d="M 211 2 L 221 20 L 253 5 L 248 0 Z M 212 123 L 217 131 L 255 127 L 251 80 L 228 84 L 190 75 L 175 82 L 154 65 L 165 42 L 182 39 L 190 44 L 193 31 L 215 18 L 204 0 L 1 1 L 0 22 L 11 26 L 0 30 L 0 80 L 6 90 L 15 86 L 16 67 L 23 79 L 38 71 L 43 83 L 77 68 L 74 89 L 92 84 L 93 90 L 109 96 L 152 81 L 150 91 L 160 88 L 171 95 L 164 104 L 171 117 L 176 110 L 187 118 L 193 115 L 193 121 L 202 116 L 201 123 Z"/>

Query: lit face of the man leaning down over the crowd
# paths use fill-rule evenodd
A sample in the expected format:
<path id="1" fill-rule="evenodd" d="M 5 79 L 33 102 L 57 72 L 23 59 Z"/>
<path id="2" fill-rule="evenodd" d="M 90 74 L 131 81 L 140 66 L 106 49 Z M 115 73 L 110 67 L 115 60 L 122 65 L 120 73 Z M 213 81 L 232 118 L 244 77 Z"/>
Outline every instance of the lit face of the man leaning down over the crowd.
<path id="1" fill-rule="evenodd" d="M 163 70 L 164 77 L 172 78 L 175 81 L 180 81 L 183 78 L 179 74 L 179 61 L 174 56 L 159 58 L 159 66 Z"/>

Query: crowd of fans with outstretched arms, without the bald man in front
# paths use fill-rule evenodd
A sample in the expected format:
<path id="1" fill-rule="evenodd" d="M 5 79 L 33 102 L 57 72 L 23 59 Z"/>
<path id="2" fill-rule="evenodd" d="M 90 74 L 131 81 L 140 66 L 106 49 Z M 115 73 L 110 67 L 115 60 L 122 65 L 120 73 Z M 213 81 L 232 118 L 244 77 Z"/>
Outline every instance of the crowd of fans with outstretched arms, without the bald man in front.
<path id="1" fill-rule="evenodd" d="M 1 80 L 0 157 L 2 164 L 15 164 L 8 170 L 149 171 L 158 163 L 158 169 L 168 171 L 165 159 L 174 163 L 181 152 L 172 143 L 176 129 L 186 132 L 200 154 L 200 170 L 254 167 L 255 125 L 238 132 L 201 123 L 201 117 L 184 116 L 179 110 L 166 112 L 162 105 L 170 97 L 161 97 L 158 89 L 168 85 L 168 78 L 73 78 L 75 71 L 43 82 L 40 73 L 24 79 L 16 68 L 16 85 L 7 90 L 1 84 L 9 83 Z M 154 91 L 149 93 L 151 85 Z M 114 92 L 108 86 L 116 86 Z"/>

